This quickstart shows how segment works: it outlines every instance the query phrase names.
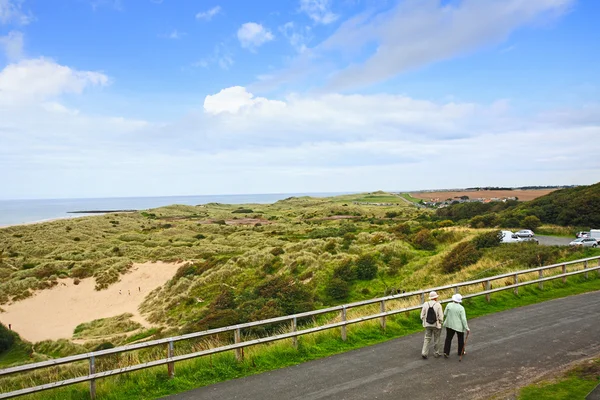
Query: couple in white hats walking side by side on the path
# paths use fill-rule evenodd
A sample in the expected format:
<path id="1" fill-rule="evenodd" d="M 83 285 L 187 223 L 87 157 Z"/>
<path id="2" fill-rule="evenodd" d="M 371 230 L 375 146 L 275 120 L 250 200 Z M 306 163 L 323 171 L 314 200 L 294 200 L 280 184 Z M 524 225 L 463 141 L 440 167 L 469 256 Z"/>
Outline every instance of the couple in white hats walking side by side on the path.
<path id="1" fill-rule="evenodd" d="M 439 357 L 440 353 L 440 336 L 442 328 L 446 328 L 446 341 L 444 342 L 444 357 L 450 355 L 450 346 L 454 334 L 458 337 L 458 355 L 462 355 L 465 343 L 465 332 L 470 332 L 467 324 L 467 315 L 465 308 L 461 305 L 462 296 L 455 294 L 452 296 L 452 303 L 446 306 L 446 310 L 442 313 L 442 305 L 438 302 L 438 294 L 436 292 L 429 293 L 429 301 L 423 304 L 421 309 L 421 320 L 423 328 L 425 328 L 425 341 L 421 357 L 427 359 L 429 357 L 429 347 L 433 339 L 433 355 Z"/>

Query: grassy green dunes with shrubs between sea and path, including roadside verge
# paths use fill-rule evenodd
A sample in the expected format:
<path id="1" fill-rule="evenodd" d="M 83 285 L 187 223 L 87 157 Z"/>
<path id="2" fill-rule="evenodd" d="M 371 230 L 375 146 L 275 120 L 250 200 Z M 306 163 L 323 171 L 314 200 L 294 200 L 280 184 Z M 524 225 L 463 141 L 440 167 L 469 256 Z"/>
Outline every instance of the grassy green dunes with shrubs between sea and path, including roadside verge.
<path id="1" fill-rule="evenodd" d="M 396 195 L 376 192 L 289 198 L 267 205 L 173 205 L 139 213 L 0 229 L 0 309 L 62 280 L 93 279 L 96 290 L 106 290 L 134 262 L 186 262 L 173 279 L 142 303 L 140 311 L 154 324 L 153 328 L 142 329 L 127 315 L 82 321 L 72 338 L 33 345 L 20 341 L 9 352 L 0 354 L 0 367 L 600 255 L 598 249 L 499 246 L 478 250 L 477 262 L 446 273 L 442 263 L 448 254 L 460 243 L 472 242 L 489 230 L 433 221 L 430 213 Z M 564 288 L 557 287 L 553 296 L 597 289 L 588 286 L 568 283 Z M 481 288 L 472 288 L 477 289 Z M 476 307 L 472 310 L 474 315 L 481 315 L 538 301 L 544 293 L 521 295 L 500 308 L 492 303 L 481 305 L 481 311 Z M 325 332 L 303 338 L 298 351 L 291 350 L 289 343 L 259 346 L 249 350 L 251 361 L 242 364 L 232 363 L 232 356 L 224 354 L 178 364 L 174 381 L 165 380 L 164 371 L 158 369 L 107 380 L 100 383 L 100 388 L 106 385 L 103 398 L 113 398 L 108 393 L 115 390 L 122 397 L 114 398 L 153 398 L 411 333 L 420 329 L 415 318 L 391 318 L 384 334 L 376 324 L 352 327 L 352 339 L 346 343 L 338 339 L 336 332 Z M 279 329 L 285 328 L 267 327 L 245 334 L 255 337 Z M 179 351 L 208 348 L 229 339 L 182 344 Z M 102 368 L 162 356 L 164 349 L 109 357 Z M 198 368 L 201 373 L 194 372 Z M 85 370 L 82 363 L 56 369 L 52 374 L 54 378 L 72 377 Z M 48 374 L 43 372 L 9 377 L 0 380 L 0 389 L 47 379 Z M 147 389 L 140 389 L 140 394 L 134 387 Z M 59 397 L 55 398 L 79 398 L 84 392 L 81 387 L 67 388 L 57 392 Z M 53 398 L 54 394 L 46 396 Z"/>

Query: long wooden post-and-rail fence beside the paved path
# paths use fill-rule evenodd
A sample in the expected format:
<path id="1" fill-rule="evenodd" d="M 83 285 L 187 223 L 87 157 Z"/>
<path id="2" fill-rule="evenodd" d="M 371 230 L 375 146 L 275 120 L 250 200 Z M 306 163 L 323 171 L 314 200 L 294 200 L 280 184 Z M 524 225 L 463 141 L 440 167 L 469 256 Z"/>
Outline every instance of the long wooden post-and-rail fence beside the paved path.
<path id="1" fill-rule="evenodd" d="M 589 263 L 591 261 L 597 261 L 597 265 L 590 267 Z M 567 266 L 577 266 L 580 264 L 583 264 L 583 269 L 567 272 L 567 270 L 566 270 Z M 558 269 L 558 268 L 561 269 L 560 273 L 544 277 L 543 274 L 545 271 Z M 381 327 L 383 329 L 385 329 L 386 317 L 395 315 L 395 314 L 404 313 L 404 312 L 410 312 L 413 310 L 420 310 L 422 307 L 422 304 L 425 301 L 426 293 L 428 293 L 432 290 L 435 290 L 438 292 L 444 291 L 444 290 L 454 290 L 455 293 L 458 293 L 459 288 L 482 284 L 482 285 L 484 285 L 485 290 L 482 290 L 480 292 L 465 294 L 465 295 L 463 295 L 463 298 L 467 299 L 467 298 L 473 298 L 473 297 L 485 295 L 487 301 L 489 302 L 490 295 L 492 293 L 497 293 L 497 292 L 500 292 L 503 290 L 513 289 L 515 294 L 517 294 L 519 287 L 526 286 L 526 285 L 532 285 L 532 284 L 536 284 L 536 283 L 539 285 L 539 287 L 541 289 L 543 289 L 543 284 L 546 281 L 562 278 L 563 282 L 566 282 L 567 277 L 573 276 L 573 275 L 579 275 L 579 274 L 584 274 L 584 276 L 587 278 L 588 273 L 591 271 L 597 271 L 600 274 L 600 256 L 584 258 L 584 259 L 574 260 L 574 261 L 567 261 L 567 262 L 558 263 L 558 264 L 546 265 L 543 267 L 532 268 L 532 269 L 527 269 L 527 270 L 509 272 L 509 273 L 502 274 L 502 275 L 495 275 L 495 276 L 481 278 L 481 279 L 467 281 L 467 282 L 459 282 L 459 283 L 454 283 L 454 284 L 445 285 L 445 286 L 438 286 L 438 287 L 433 287 L 433 288 L 429 288 L 429 289 L 412 291 L 412 292 L 408 292 L 408 293 L 401 293 L 401 294 L 380 297 L 380 298 L 371 299 L 371 300 L 364 300 L 364 301 L 344 304 L 341 306 L 324 308 L 324 309 L 315 310 L 315 311 L 287 315 L 287 316 L 283 316 L 283 317 L 271 318 L 271 319 L 266 319 L 266 320 L 261 320 L 261 321 L 254 321 L 254 322 L 249 322 L 249 323 L 244 323 L 244 324 L 231 325 L 231 326 L 226 326 L 223 328 L 210 329 L 210 330 L 206 330 L 206 331 L 202 331 L 202 332 L 195 332 L 195 333 L 190 333 L 190 334 L 181 335 L 181 336 L 175 336 L 175 337 L 158 339 L 158 340 L 151 340 L 151 341 L 147 341 L 147 342 L 143 342 L 143 343 L 115 347 L 112 349 L 94 351 L 94 352 L 90 352 L 90 353 L 78 354 L 78 355 L 74 355 L 74 356 L 58 358 L 58 359 L 49 360 L 49 361 L 42 361 L 42 362 L 33 363 L 33 364 L 26 364 L 26 365 L 20 365 L 17 367 L 5 368 L 5 369 L 0 370 L 0 378 L 3 376 L 10 375 L 10 374 L 33 371 L 33 370 L 37 370 L 40 368 L 48 368 L 48 367 L 53 367 L 53 366 L 57 366 L 57 365 L 61 365 L 61 364 L 69 364 L 69 363 L 73 363 L 76 361 L 88 360 L 88 362 L 89 362 L 89 374 L 88 375 L 71 378 L 71 379 L 65 379 L 65 380 L 52 382 L 52 383 L 47 383 L 44 385 L 33 386 L 33 387 L 25 388 L 25 389 L 15 390 L 12 392 L 0 393 L 0 399 L 8 399 L 8 398 L 16 397 L 16 396 L 31 394 L 31 393 L 40 392 L 43 390 L 55 389 L 55 388 L 62 387 L 62 386 L 73 385 L 76 383 L 82 383 L 82 382 L 88 382 L 88 381 L 90 382 L 90 397 L 91 397 L 91 399 L 95 399 L 96 398 L 96 385 L 95 385 L 96 379 L 106 378 L 108 376 L 119 375 L 119 374 L 123 374 L 123 373 L 127 373 L 127 372 L 133 372 L 133 371 L 137 371 L 137 370 L 141 370 L 141 369 L 145 369 L 145 368 L 156 367 L 156 366 L 167 364 L 168 375 L 169 375 L 169 377 L 172 378 L 175 374 L 175 362 L 178 362 L 178 361 L 189 360 L 192 358 L 202 357 L 202 356 L 206 356 L 206 355 L 211 355 L 211 354 L 216 354 L 216 353 L 221 353 L 221 352 L 231 351 L 231 350 L 234 350 L 236 352 L 236 358 L 238 360 L 241 360 L 243 358 L 242 350 L 245 347 L 254 346 L 254 345 L 263 344 L 263 343 L 270 343 L 270 342 L 283 340 L 283 339 L 290 339 L 290 338 L 293 340 L 293 345 L 296 347 L 297 346 L 297 338 L 299 336 L 316 333 L 316 332 L 324 331 L 327 329 L 333 329 L 333 328 L 340 328 L 342 340 L 346 340 L 346 336 L 347 336 L 346 327 L 348 325 L 352 325 L 352 324 L 356 324 L 356 323 L 360 323 L 360 322 L 364 322 L 364 321 L 368 321 L 368 320 L 373 320 L 373 319 L 377 319 L 377 318 L 380 319 Z M 536 273 L 536 272 L 539 274 L 538 279 L 519 281 L 519 276 L 532 274 L 532 273 Z M 505 282 L 505 284 L 503 286 L 492 288 L 492 282 L 498 281 L 501 279 L 507 279 L 507 278 L 513 279 L 511 284 L 506 284 L 506 282 Z M 405 299 L 409 299 L 409 298 L 415 297 L 415 296 L 418 296 L 420 299 L 419 305 L 403 307 L 403 308 L 396 308 L 393 310 L 386 311 L 386 302 L 393 301 L 393 300 L 405 300 Z M 448 302 L 448 301 L 450 301 L 450 300 L 449 299 L 442 300 L 442 303 Z M 347 311 L 349 309 L 362 307 L 362 306 L 368 306 L 368 305 L 374 305 L 377 303 L 380 304 L 380 308 L 379 308 L 380 312 L 379 313 L 370 314 L 370 315 L 366 315 L 366 316 L 362 316 L 362 317 L 354 318 L 354 319 L 346 318 Z M 325 325 L 320 325 L 320 326 L 301 329 L 301 330 L 297 329 L 298 319 L 307 318 L 307 317 L 315 317 L 317 315 L 322 315 L 322 314 L 332 313 L 332 312 L 340 313 L 340 321 L 339 322 L 328 323 Z M 269 324 L 274 324 L 274 323 L 281 323 L 281 322 L 290 322 L 291 323 L 290 324 L 291 332 L 287 332 L 287 333 L 283 333 L 283 334 L 276 334 L 276 335 L 271 335 L 271 336 L 267 336 L 267 337 L 251 339 L 251 340 L 246 340 L 246 341 L 241 340 L 241 331 L 243 329 L 253 328 L 253 327 L 263 326 L 263 325 L 269 325 Z M 182 354 L 182 355 L 178 355 L 178 356 L 174 355 L 174 343 L 175 342 L 179 342 L 182 340 L 201 338 L 201 337 L 206 337 L 206 336 L 212 336 L 212 335 L 216 335 L 219 333 L 225 333 L 225 332 L 234 332 L 234 343 L 224 345 L 224 346 L 219 346 L 216 348 L 207 349 L 207 350 L 202 350 L 202 351 L 198 351 L 198 352 L 194 352 L 194 353 Z M 131 365 L 131 366 L 127 366 L 124 368 L 113 369 L 113 370 L 109 370 L 109 371 L 96 372 L 96 359 L 98 357 L 111 355 L 111 354 L 121 354 L 121 353 L 129 352 L 129 351 L 133 351 L 133 350 L 146 349 L 146 348 L 159 346 L 159 345 L 167 346 L 167 354 L 168 354 L 167 358 L 155 360 L 155 361 L 149 361 L 149 362 L 145 362 L 145 363 L 140 363 L 140 364 L 136 364 L 136 365 Z"/>

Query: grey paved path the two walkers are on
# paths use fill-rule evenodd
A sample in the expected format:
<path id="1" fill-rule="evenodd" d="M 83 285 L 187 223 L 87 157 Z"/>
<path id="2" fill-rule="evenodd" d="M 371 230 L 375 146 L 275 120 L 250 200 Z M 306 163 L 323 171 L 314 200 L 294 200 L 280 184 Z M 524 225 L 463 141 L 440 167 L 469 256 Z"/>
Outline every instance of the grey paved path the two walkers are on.
<path id="1" fill-rule="evenodd" d="M 421 359 L 414 334 L 170 397 L 197 399 L 481 399 L 600 354 L 600 292 L 470 321 L 467 355 Z M 468 308 L 467 308 L 468 315 Z M 443 338 L 442 338 L 443 340 Z"/>

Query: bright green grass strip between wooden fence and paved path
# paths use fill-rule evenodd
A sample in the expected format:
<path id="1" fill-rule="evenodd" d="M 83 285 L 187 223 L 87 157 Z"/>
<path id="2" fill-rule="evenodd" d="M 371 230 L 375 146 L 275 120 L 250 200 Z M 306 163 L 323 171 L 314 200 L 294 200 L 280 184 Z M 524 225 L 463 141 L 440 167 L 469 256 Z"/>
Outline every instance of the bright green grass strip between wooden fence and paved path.
<path id="1" fill-rule="evenodd" d="M 481 296 L 475 299 L 466 299 L 464 305 L 469 318 L 475 318 L 599 289 L 600 278 L 596 273 L 590 273 L 587 280 L 583 276 L 578 276 L 569 278 L 567 283 L 562 283 L 560 280 L 546 282 L 543 290 L 540 290 L 537 285 L 530 285 L 519 288 L 519 295 L 514 295 L 511 290 L 493 294 L 490 303 L 487 303 L 485 297 Z M 246 349 L 246 357 L 243 362 L 236 362 L 233 353 L 228 352 L 177 363 L 174 379 L 167 378 L 166 367 L 163 366 L 100 380 L 97 382 L 98 399 L 154 399 L 343 353 L 421 330 L 418 313 L 412 312 L 408 316 L 406 314 L 396 315 L 388 318 L 385 332 L 380 330 L 376 321 L 349 327 L 346 342 L 339 338 L 339 330 L 334 329 L 299 338 L 297 350 L 290 345 L 289 340 Z M 1 391 L 3 390 L 0 386 Z M 88 385 L 74 385 L 25 398 L 36 400 L 88 399 Z"/>

